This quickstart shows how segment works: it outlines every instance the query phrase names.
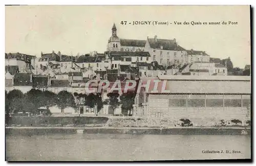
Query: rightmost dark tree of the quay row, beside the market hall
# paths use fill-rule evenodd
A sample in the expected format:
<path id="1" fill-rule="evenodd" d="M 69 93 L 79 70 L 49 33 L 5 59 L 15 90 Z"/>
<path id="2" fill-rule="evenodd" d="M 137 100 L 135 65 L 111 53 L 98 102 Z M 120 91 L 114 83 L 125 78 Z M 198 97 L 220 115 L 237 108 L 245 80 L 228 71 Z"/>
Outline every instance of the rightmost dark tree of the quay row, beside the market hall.
<path id="1" fill-rule="evenodd" d="M 122 108 L 123 114 L 125 114 L 124 111 L 125 112 L 127 111 L 127 114 L 129 111 L 129 114 L 131 114 L 131 111 L 132 111 L 133 105 L 134 105 L 134 100 L 135 100 L 134 93 L 133 92 L 123 93 L 120 96 L 120 100 L 121 100 L 121 104 L 122 104 L 121 108 Z"/>

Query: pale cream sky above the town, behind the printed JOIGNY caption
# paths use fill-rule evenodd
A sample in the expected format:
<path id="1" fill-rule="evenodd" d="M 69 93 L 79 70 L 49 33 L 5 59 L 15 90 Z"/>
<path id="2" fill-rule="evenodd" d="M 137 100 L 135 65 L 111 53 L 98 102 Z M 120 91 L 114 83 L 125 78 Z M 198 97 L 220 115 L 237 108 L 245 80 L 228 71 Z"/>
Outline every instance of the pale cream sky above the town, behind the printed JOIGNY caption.
<path id="1" fill-rule="evenodd" d="M 132 25 L 133 21 L 151 21 L 151 25 Z M 153 26 L 153 21 L 168 21 L 168 25 Z M 191 21 L 202 24 L 192 26 Z M 227 25 L 208 25 L 222 21 Z M 175 38 L 187 50 L 230 57 L 234 67 L 250 64 L 249 6 L 6 6 L 6 53 L 37 57 L 52 51 L 74 56 L 103 53 L 114 22 L 119 38 Z"/>

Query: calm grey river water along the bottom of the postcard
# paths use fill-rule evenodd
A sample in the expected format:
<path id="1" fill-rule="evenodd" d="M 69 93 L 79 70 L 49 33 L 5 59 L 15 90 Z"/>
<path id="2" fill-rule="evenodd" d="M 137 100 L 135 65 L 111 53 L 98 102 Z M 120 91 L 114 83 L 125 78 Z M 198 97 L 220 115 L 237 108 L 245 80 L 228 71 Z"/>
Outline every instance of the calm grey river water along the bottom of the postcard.
<path id="1" fill-rule="evenodd" d="M 243 159 L 250 158 L 250 146 L 248 135 L 6 136 L 8 161 Z M 203 153 L 207 150 L 220 152 L 223 150 L 224 153 Z M 226 153 L 226 150 L 231 153 Z M 232 151 L 238 153 L 232 153 Z"/>

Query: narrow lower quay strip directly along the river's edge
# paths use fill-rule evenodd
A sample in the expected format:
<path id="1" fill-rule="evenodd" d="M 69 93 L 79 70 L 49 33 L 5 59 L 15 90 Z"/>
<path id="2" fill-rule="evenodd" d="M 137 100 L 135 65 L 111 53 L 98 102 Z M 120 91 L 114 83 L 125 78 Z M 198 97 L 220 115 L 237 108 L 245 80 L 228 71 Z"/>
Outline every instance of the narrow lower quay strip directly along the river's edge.
<path id="1" fill-rule="evenodd" d="M 7 135 L 65 134 L 179 134 L 179 135 L 250 135 L 241 127 L 6 127 Z"/>

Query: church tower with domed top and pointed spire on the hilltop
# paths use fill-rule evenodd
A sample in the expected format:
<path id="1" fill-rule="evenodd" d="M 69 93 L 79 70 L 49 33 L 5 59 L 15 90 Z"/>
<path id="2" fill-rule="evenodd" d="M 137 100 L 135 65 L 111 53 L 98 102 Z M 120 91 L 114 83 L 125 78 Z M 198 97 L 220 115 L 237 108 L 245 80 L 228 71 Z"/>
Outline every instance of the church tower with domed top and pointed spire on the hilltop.
<path id="1" fill-rule="evenodd" d="M 112 27 L 112 36 L 109 38 L 108 45 L 106 46 L 107 51 L 120 51 L 120 39 L 116 34 L 116 25 L 114 23 Z"/>

